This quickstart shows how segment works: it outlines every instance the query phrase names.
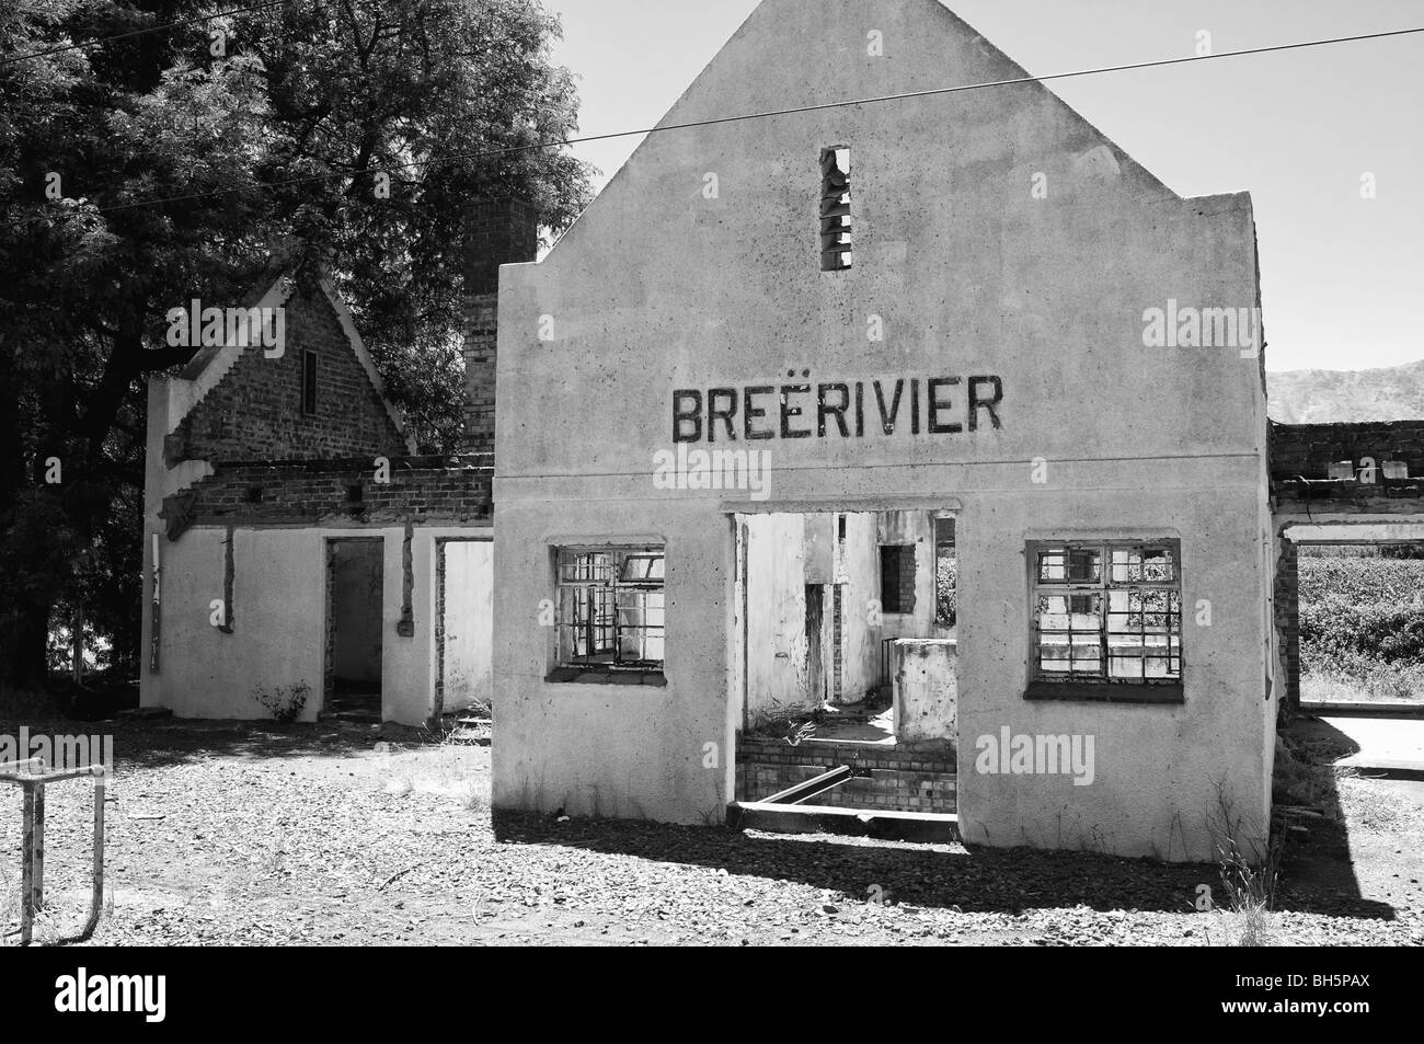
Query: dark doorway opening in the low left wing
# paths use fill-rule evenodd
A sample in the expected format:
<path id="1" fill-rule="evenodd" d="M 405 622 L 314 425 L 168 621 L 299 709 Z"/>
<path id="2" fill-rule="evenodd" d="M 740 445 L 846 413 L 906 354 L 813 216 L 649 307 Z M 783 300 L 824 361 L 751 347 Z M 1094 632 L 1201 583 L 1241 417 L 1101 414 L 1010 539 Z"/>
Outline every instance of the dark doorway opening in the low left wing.
<path id="1" fill-rule="evenodd" d="M 383 553 L 380 537 L 326 544 L 328 714 L 380 721 Z"/>

